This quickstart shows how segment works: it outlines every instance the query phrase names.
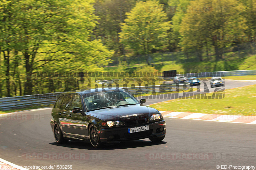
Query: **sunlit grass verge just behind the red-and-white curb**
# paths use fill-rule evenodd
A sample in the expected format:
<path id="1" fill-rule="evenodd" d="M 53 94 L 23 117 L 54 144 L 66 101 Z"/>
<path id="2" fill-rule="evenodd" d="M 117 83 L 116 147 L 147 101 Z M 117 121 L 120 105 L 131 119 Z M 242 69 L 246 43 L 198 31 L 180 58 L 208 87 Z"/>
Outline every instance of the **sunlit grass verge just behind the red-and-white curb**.
<path id="1" fill-rule="evenodd" d="M 150 105 L 159 111 L 256 116 L 256 85 L 225 90 L 223 99 L 174 99 Z"/>

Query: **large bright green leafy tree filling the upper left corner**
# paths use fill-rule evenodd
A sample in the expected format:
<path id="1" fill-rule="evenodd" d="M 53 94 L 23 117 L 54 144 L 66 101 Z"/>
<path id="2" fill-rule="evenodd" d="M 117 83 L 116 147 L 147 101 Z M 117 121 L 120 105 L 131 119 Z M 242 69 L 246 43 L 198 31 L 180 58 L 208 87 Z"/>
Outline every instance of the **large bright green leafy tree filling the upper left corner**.
<path id="1" fill-rule="evenodd" d="M 10 79 L 10 64 L 17 64 L 18 56 L 26 73 L 25 95 L 32 94 L 31 75 L 35 71 L 96 71 L 99 66 L 107 65 L 113 52 L 101 41 L 90 39 L 98 19 L 93 14 L 93 2 L 2 1 L 0 50 L 6 79 Z M 13 72 L 17 74 L 17 70 Z"/>

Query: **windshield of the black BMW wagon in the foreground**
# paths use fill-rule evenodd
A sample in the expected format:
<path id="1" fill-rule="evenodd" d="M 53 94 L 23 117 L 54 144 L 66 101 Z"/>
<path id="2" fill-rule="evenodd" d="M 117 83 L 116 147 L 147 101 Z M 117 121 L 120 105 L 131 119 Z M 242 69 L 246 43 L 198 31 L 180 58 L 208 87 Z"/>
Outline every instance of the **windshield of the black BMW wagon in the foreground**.
<path id="1" fill-rule="evenodd" d="M 125 90 L 96 92 L 84 95 L 87 110 L 96 110 L 107 107 L 140 104 L 139 101 Z"/>

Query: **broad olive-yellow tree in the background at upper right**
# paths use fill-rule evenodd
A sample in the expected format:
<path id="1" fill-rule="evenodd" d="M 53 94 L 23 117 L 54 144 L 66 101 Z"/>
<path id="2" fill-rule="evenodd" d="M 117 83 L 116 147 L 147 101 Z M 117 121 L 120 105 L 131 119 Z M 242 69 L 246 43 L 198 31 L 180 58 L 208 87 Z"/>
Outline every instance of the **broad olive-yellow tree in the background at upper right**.
<path id="1" fill-rule="evenodd" d="M 225 37 L 244 34 L 248 28 L 245 7 L 237 0 L 196 0 L 188 8 L 180 25 L 181 46 L 196 49 L 200 61 L 203 48 L 208 46 L 214 49 L 216 60 L 221 59 L 222 49 L 234 43 Z"/>

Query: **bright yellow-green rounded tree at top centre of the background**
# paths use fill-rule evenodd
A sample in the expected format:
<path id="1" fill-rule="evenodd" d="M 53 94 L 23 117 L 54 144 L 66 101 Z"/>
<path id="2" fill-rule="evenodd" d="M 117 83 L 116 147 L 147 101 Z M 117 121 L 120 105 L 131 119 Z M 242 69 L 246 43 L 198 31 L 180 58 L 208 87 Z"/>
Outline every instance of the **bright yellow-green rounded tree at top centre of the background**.
<path id="1" fill-rule="evenodd" d="M 136 55 L 145 55 L 147 59 L 148 54 L 166 46 L 170 22 L 166 21 L 167 14 L 158 1 L 138 2 L 126 15 L 120 33 L 126 50 L 132 50 Z"/>

